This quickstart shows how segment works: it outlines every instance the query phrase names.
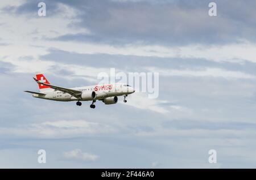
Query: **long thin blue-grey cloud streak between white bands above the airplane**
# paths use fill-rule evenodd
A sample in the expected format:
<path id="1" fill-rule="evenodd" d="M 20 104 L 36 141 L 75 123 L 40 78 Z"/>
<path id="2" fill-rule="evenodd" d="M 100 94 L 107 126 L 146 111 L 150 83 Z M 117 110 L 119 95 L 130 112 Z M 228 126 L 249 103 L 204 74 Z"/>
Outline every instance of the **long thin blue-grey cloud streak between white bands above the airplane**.
<path id="1" fill-rule="evenodd" d="M 229 71 L 240 71 L 256 76 L 256 63 L 244 61 L 243 63 L 213 62 L 208 59 L 195 58 L 159 58 L 140 57 L 136 55 L 110 55 L 110 54 L 78 54 L 56 49 L 49 49 L 49 53 L 40 59 L 66 63 L 70 65 L 119 68 L 127 72 L 144 72 L 144 67 L 170 68 L 172 70 L 204 70 L 205 68 L 222 68 Z M 134 66 L 136 65 L 136 66 Z M 65 70 L 68 73 L 68 70 Z M 161 75 L 161 74 L 160 74 Z"/>

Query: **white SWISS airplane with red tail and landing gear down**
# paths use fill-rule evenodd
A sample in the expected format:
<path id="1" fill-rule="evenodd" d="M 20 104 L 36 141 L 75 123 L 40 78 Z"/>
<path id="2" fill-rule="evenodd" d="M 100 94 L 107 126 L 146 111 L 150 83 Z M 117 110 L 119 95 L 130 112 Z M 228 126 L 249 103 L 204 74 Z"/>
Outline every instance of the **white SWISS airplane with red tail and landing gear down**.
<path id="1" fill-rule="evenodd" d="M 92 101 L 90 108 L 93 109 L 96 107 L 94 105 L 96 100 L 107 105 L 116 104 L 117 96 L 123 96 L 123 102 L 127 102 L 126 97 L 135 92 L 129 84 L 121 83 L 64 88 L 52 85 L 43 74 L 37 74 L 34 80 L 38 83 L 40 92 L 24 91 L 32 93 L 33 97 L 53 101 L 77 101 L 77 106 L 82 105 L 81 101 Z"/>

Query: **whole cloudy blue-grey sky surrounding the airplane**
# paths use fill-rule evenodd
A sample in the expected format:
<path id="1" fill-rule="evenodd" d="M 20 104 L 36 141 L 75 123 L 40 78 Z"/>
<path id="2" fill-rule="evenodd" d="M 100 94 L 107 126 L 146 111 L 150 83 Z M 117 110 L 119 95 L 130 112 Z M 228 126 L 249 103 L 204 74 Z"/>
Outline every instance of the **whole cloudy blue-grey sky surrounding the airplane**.
<path id="1" fill-rule="evenodd" d="M 0 2 L 0 168 L 255 168 L 256 2 Z M 159 97 L 32 98 L 99 72 L 159 72 Z M 38 163 L 45 149 L 46 164 Z M 217 151 L 209 164 L 208 151 Z"/>

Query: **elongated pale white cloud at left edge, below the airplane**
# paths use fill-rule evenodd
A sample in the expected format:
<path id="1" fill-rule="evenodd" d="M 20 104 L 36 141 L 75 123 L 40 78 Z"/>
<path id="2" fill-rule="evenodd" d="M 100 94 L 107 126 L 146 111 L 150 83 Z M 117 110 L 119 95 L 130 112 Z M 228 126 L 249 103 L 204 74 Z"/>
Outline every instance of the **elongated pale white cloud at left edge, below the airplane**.
<path id="1" fill-rule="evenodd" d="M 47 121 L 23 126 L 0 128 L 0 134 L 9 136 L 50 139 L 110 134 L 114 132 L 117 132 L 117 130 L 112 126 L 96 122 L 87 122 L 84 120 Z"/>

